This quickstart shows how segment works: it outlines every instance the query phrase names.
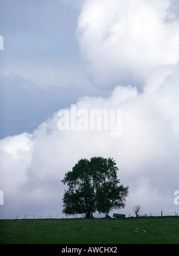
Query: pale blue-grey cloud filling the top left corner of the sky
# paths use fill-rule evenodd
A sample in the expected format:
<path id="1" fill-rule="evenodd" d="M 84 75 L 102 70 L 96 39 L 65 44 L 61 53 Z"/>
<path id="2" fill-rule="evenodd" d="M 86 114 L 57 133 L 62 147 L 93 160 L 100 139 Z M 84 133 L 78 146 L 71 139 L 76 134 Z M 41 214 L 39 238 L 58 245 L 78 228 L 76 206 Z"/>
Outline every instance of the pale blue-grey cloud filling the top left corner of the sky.
<path id="1" fill-rule="evenodd" d="M 75 36 L 78 14 L 78 9 L 60 1 L 5 1 L 0 20 L 4 36 L 1 72 L 36 79 L 45 87 L 43 69 L 44 75 L 51 76 L 51 70 L 60 73 L 80 66 Z"/>

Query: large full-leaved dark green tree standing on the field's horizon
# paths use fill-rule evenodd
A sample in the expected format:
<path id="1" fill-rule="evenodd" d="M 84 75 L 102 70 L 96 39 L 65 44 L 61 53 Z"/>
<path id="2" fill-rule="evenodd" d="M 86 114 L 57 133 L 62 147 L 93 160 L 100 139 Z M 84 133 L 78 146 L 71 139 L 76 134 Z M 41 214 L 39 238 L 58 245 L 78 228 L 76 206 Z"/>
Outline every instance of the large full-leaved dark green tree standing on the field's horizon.
<path id="1" fill-rule="evenodd" d="M 95 211 L 108 214 L 113 208 L 124 208 L 128 187 L 119 186 L 117 172 L 112 158 L 79 160 L 62 180 L 69 186 L 63 197 L 63 213 L 91 217 Z"/>

